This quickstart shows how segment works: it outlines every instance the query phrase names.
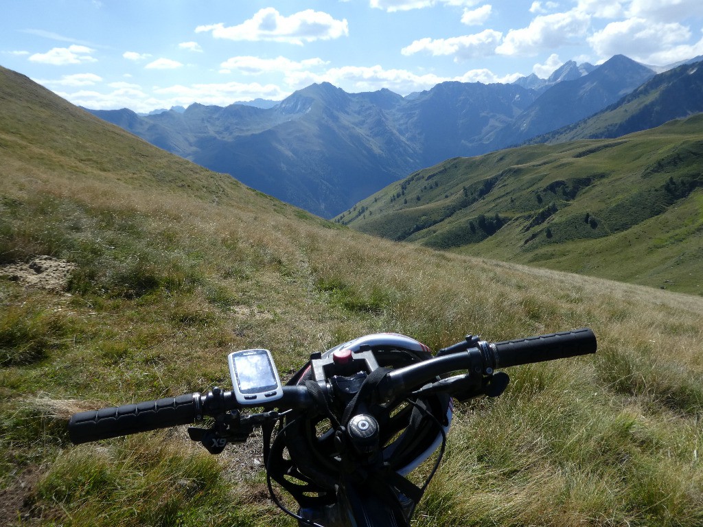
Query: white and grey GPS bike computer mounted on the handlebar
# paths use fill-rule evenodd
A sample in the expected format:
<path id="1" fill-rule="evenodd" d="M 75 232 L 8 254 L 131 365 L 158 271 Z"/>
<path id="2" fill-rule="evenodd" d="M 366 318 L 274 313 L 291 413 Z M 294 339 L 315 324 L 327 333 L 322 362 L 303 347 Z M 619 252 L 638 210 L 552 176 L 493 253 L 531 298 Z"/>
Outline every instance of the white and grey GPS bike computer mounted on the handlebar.
<path id="1" fill-rule="evenodd" d="M 227 357 L 237 402 L 261 406 L 283 397 L 276 364 L 267 349 L 233 351 Z"/>

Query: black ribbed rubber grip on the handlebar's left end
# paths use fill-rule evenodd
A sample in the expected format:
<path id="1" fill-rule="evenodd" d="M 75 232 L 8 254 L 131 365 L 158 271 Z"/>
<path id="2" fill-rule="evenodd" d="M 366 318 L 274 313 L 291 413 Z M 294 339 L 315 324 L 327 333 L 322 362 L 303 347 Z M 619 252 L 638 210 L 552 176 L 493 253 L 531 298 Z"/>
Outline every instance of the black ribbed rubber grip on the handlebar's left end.
<path id="1" fill-rule="evenodd" d="M 159 428 L 175 427 L 195 421 L 198 393 L 79 412 L 68 422 L 72 443 L 88 443 L 117 436 L 127 436 Z"/>

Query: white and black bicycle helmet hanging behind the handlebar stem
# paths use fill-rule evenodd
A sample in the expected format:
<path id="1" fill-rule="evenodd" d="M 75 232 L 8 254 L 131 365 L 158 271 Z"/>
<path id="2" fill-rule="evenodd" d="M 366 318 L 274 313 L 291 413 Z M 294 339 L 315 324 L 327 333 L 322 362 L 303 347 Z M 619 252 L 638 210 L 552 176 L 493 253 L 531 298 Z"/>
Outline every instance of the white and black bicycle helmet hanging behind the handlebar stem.
<path id="1" fill-rule="evenodd" d="M 351 354 L 353 358 L 365 355 L 371 368 L 390 369 L 432 357 L 425 344 L 411 337 L 396 333 L 369 334 L 313 356 L 287 384 L 309 385 L 310 381 L 319 380 L 316 377 L 323 375 L 323 378 L 329 379 L 330 371 L 321 372 L 319 364 L 326 360 L 325 364 L 330 365 L 335 354 L 337 357 Z M 334 368 L 333 376 L 338 375 Z M 347 379 L 353 382 L 356 375 L 365 377 L 368 373 L 349 371 L 347 368 L 344 375 L 336 377 L 335 382 L 345 382 Z M 401 476 L 406 476 L 439 448 L 449 431 L 452 417 L 451 398 L 446 393 L 432 393 L 412 398 L 411 401 L 390 401 L 374 409 L 374 417 L 380 426 L 379 444 L 384 466 Z M 330 413 L 341 415 L 343 408 L 340 404 L 343 407 L 349 402 L 338 403 Z M 302 507 L 334 502 L 335 485 L 345 469 L 340 464 L 340 443 L 335 441 L 335 424 L 328 416 L 324 412 L 310 415 L 305 410 L 287 414 L 278 431 L 278 434 L 283 434 L 283 441 L 279 441 L 281 438 L 274 441 L 267 459 L 271 478 Z"/>

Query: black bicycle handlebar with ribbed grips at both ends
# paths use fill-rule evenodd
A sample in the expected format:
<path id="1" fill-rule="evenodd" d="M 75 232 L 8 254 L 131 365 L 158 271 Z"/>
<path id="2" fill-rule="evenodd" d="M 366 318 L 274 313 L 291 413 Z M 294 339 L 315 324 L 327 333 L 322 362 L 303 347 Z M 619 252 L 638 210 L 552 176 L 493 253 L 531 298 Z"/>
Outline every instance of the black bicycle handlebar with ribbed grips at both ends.
<path id="1" fill-rule="evenodd" d="M 490 375 L 498 367 L 510 367 L 544 360 L 595 353 L 596 341 L 587 328 L 570 332 L 539 335 L 526 339 L 479 345 L 465 351 L 423 360 L 389 372 L 382 385 L 382 397 L 408 393 L 439 375 L 456 370 L 470 370 L 477 375 Z M 283 386 L 283 398 L 276 408 L 313 408 L 316 399 L 305 386 Z M 192 424 L 203 415 L 218 415 L 242 408 L 231 391 L 213 389 L 205 395 L 186 393 L 177 397 L 146 401 L 79 412 L 71 416 L 68 432 L 72 443 L 127 436 L 138 432 Z"/>

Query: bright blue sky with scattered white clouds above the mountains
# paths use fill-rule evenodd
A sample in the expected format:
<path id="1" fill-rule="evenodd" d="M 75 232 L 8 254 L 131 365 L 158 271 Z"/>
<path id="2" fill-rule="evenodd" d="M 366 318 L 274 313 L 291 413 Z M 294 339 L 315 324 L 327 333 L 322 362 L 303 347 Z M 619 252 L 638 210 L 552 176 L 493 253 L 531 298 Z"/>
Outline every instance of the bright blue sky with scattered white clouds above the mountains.
<path id="1" fill-rule="evenodd" d="M 703 55 L 701 0 L 2 0 L 0 65 L 93 110 L 402 96 L 548 77 L 623 54 Z"/>

